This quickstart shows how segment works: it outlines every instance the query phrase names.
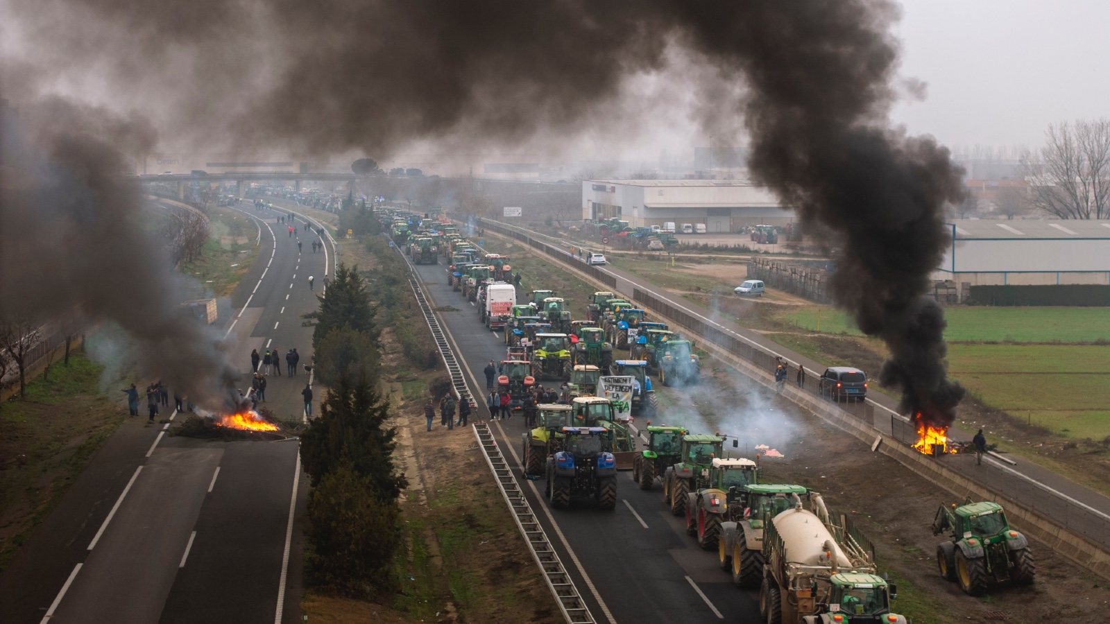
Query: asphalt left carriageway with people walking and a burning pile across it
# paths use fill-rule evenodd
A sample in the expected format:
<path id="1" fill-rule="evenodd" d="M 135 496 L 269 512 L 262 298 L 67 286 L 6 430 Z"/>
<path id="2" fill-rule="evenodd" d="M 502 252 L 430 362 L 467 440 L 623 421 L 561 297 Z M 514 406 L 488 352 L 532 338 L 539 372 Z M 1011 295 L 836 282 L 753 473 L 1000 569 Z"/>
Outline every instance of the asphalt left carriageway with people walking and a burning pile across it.
<path id="1" fill-rule="evenodd" d="M 218 321 L 245 389 L 251 349 L 296 348 L 311 362 L 312 330 L 300 315 L 316 308 L 334 251 L 329 242 L 325 270 L 302 222 L 293 238 L 275 227 L 279 213 L 234 208 L 260 220 L 259 260 L 231 296 L 232 318 Z M 268 380 L 266 405 L 301 417 L 309 378 Z M 300 621 L 307 490 L 296 440 L 205 442 L 144 423 L 124 422 L 0 575 L 0 620 L 261 624 L 281 610 L 282 621 Z"/>

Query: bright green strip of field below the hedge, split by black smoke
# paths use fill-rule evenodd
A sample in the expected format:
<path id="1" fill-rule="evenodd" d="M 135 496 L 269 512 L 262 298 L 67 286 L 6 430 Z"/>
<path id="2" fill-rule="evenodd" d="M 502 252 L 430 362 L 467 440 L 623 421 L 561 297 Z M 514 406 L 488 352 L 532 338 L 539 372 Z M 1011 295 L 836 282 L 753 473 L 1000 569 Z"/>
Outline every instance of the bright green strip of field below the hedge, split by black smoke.
<path id="1" fill-rule="evenodd" d="M 839 310 L 806 305 L 784 314 L 791 325 L 821 332 L 859 334 Z M 949 342 L 1096 342 L 1110 341 L 1110 308 L 986 308 L 945 310 Z"/>

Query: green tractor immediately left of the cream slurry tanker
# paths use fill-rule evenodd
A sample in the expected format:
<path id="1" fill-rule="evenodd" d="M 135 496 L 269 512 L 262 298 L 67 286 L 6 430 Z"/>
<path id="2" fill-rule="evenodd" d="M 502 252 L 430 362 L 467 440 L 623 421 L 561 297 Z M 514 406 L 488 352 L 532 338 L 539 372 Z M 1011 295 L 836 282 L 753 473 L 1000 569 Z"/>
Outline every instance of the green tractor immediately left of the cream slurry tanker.
<path id="1" fill-rule="evenodd" d="M 763 581 L 764 525 L 808 497 L 809 491 L 801 485 L 753 483 L 728 490 L 717 556 L 737 587 L 755 588 Z"/>

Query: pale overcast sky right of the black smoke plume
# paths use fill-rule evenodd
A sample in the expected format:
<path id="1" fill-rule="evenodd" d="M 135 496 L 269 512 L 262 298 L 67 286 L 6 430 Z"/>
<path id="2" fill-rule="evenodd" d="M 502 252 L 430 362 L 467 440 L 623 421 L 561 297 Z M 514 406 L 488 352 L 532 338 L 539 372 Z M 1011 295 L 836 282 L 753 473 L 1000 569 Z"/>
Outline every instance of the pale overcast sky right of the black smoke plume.
<path id="1" fill-rule="evenodd" d="M 904 0 L 902 74 L 928 99 L 894 113 L 950 147 L 1042 142 L 1048 123 L 1110 117 L 1110 2 Z"/>

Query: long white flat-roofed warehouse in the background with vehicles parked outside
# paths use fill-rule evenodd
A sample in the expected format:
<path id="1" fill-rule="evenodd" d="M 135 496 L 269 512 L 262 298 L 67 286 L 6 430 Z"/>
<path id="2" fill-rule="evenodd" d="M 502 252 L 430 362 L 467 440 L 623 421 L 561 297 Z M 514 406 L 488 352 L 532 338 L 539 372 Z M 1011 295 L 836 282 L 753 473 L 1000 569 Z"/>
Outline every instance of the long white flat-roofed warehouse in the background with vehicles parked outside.
<path id="1" fill-rule="evenodd" d="M 583 180 L 582 218 L 614 217 L 633 228 L 705 223 L 709 232 L 795 220 L 769 189 L 747 180 Z"/>

